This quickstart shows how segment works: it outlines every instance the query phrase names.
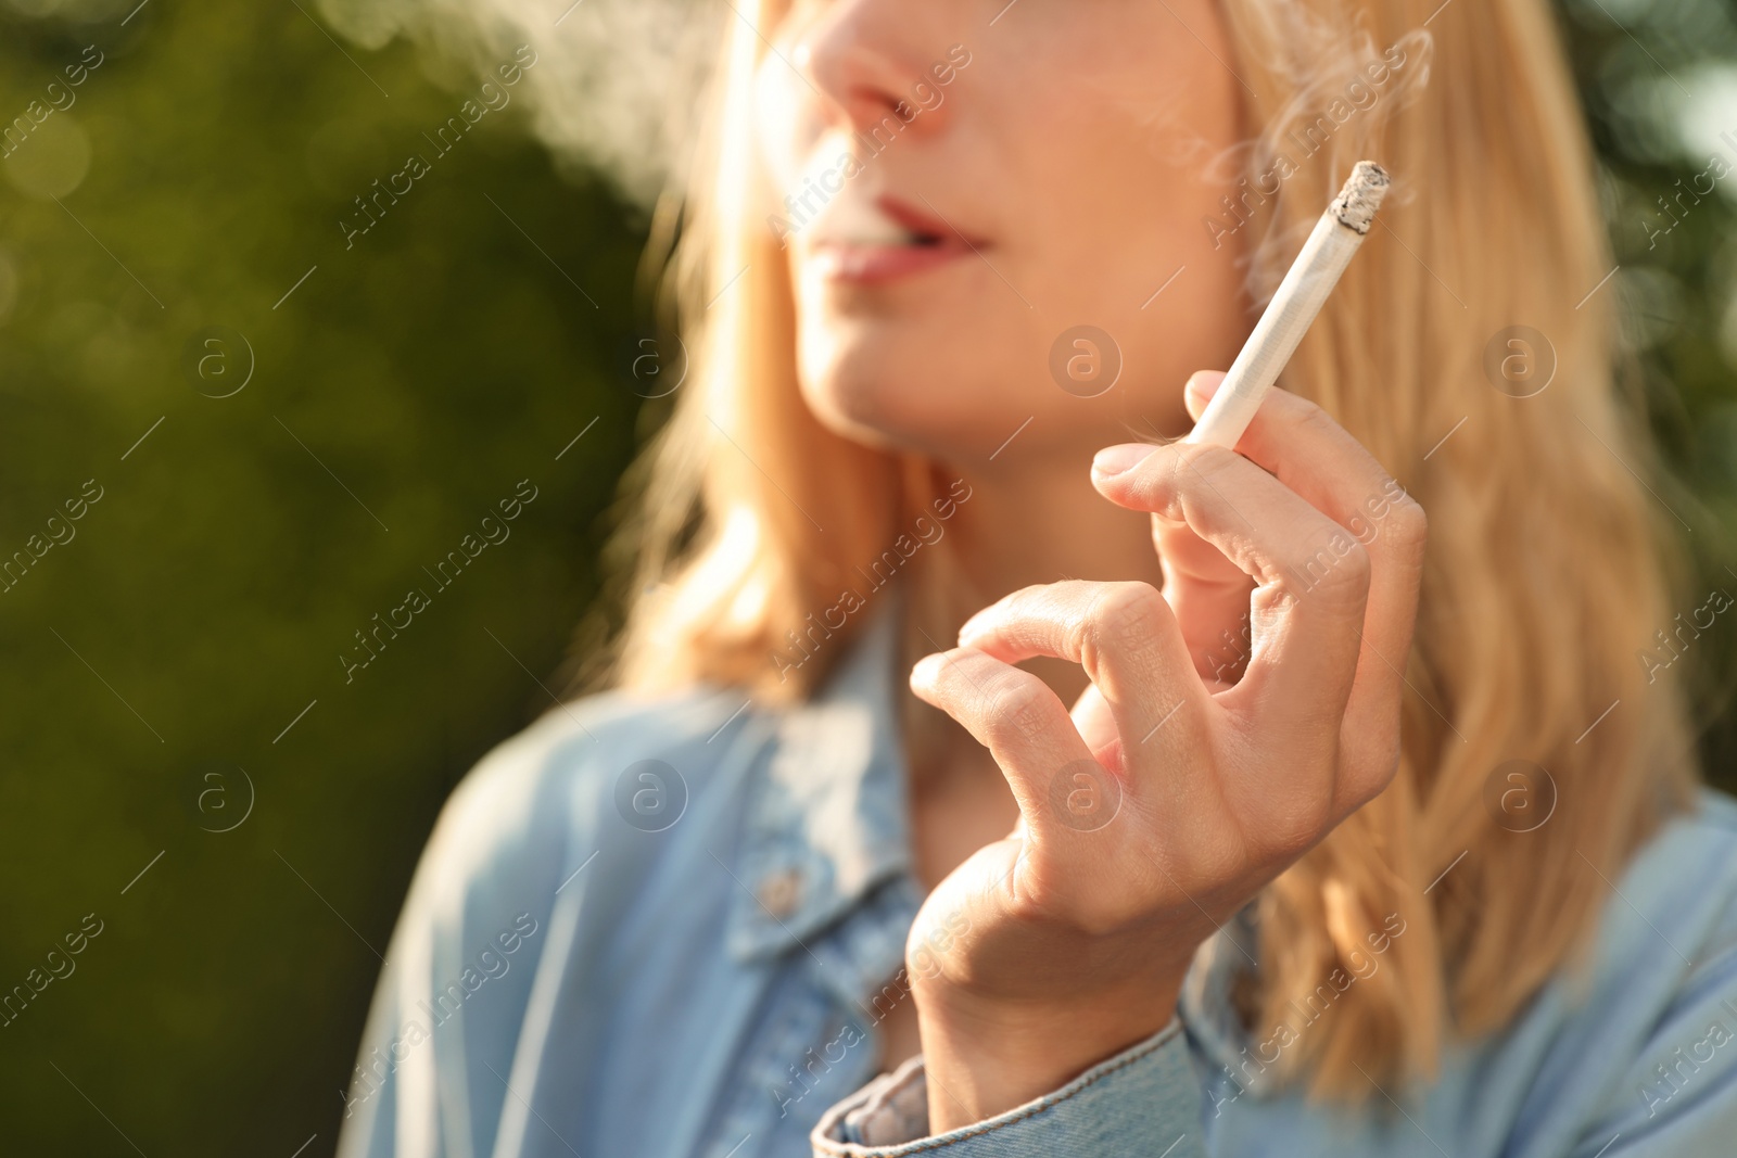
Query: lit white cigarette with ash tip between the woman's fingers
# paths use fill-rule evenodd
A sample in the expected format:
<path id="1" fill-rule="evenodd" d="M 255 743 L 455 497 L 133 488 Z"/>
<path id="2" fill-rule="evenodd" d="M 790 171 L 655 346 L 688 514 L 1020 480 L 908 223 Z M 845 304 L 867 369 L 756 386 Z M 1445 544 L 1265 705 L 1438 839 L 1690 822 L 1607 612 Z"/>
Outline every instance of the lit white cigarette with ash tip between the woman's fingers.
<path id="1" fill-rule="evenodd" d="M 1266 313 L 1254 323 L 1254 333 L 1230 365 L 1223 385 L 1212 394 L 1200 422 L 1183 441 L 1237 446 L 1254 420 L 1254 411 L 1261 408 L 1266 391 L 1291 361 L 1315 314 L 1327 304 L 1332 286 L 1339 285 L 1339 274 L 1351 264 L 1351 255 L 1369 234 L 1388 184 L 1386 170 L 1374 161 L 1358 161 L 1351 167 L 1339 196 L 1315 222 L 1315 231 L 1308 234 L 1303 252 L 1278 283 Z"/>

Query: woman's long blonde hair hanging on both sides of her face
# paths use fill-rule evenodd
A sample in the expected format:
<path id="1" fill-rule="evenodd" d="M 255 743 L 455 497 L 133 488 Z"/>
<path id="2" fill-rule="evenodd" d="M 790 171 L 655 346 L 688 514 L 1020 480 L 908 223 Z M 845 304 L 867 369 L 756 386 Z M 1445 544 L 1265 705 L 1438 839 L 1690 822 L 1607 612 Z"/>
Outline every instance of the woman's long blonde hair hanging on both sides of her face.
<path id="1" fill-rule="evenodd" d="M 933 472 L 829 432 L 799 396 L 790 285 L 749 137 L 754 26 L 775 26 L 782 5 L 738 7 L 670 281 L 688 319 L 705 318 L 688 330 L 697 375 L 648 457 L 643 594 L 615 679 L 789 700 L 827 663 L 792 674 L 771 655 L 928 502 Z M 1355 160 L 1402 182 L 1284 375 L 1430 514 L 1412 653 L 1388 656 L 1409 686 L 1400 771 L 1259 898 L 1244 1010 L 1265 1036 L 1325 995 L 1331 1012 L 1294 1035 L 1278 1071 L 1358 1099 L 1370 1080 L 1433 1073 L 1450 1035 L 1504 1024 L 1575 960 L 1633 849 L 1692 804 L 1680 693 L 1636 661 L 1671 623 L 1671 549 L 1631 474 L 1650 472 L 1650 450 L 1619 399 L 1614 290 L 1582 300 L 1612 259 L 1546 2 L 1223 0 L 1223 14 L 1252 137 L 1233 158 L 1249 184 L 1219 226 L 1258 238 L 1256 297 Z M 1350 85 L 1367 89 L 1369 63 L 1395 45 L 1414 71 L 1365 101 Z M 1430 68 L 1447 76 L 1421 83 Z M 1277 158 L 1303 141 L 1306 160 L 1275 184 Z M 1529 398 L 1483 365 L 1516 325 L 1553 347 L 1553 380 Z M 829 628 L 822 658 L 858 627 Z M 1537 830 L 1490 807 L 1508 760 L 1555 785 Z M 1403 932 L 1364 977 L 1369 934 L 1391 932 L 1391 915 Z M 1362 979 L 1339 991 L 1344 970 Z"/>

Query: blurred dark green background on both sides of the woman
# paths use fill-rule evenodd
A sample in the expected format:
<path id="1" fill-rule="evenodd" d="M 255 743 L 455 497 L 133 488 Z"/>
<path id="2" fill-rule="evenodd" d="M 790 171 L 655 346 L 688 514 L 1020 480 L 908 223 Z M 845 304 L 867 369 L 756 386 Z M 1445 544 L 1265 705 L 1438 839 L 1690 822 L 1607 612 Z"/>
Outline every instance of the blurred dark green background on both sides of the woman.
<path id="1" fill-rule="evenodd" d="M 686 7 L 0 0 L 0 1151 L 332 1153 L 415 856 L 563 691 L 679 380 L 637 266 Z M 1737 594 L 1734 14 L 1560 17 L 1661 493 Z M 1688 656 L 1727 786 L 1734 642 Z"/>

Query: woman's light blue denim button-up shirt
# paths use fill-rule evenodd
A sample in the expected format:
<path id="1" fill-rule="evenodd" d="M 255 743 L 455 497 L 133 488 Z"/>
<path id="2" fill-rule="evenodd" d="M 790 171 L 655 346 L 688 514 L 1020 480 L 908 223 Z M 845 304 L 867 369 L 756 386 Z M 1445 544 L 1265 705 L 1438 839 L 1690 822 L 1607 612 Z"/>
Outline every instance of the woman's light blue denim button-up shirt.
<path id="1" fill-rule="evenodd" d="M 801 707 L 604 694 L 492 752 L 410 887 L 339 1155 L 1737 1153 L 1737 806 L 1714 793 L 1614 882 L 1584 972 L 1428 1085 L 1355 1109 L 1265 1089 L 1233 924 L 1162 1033 L 926 1137 L 922 1059 L 877 1076 L 922 901 L 879 618 Z"/>

